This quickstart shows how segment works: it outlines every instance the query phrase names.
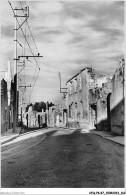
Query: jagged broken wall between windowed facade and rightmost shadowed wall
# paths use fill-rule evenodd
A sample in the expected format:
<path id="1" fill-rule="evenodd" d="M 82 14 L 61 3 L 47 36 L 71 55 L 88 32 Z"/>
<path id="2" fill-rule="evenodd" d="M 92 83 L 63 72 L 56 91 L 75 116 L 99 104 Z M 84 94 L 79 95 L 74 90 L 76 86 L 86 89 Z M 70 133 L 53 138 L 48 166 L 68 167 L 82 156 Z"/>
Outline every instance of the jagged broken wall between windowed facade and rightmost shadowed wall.
<path id="1" fill-rule="evenodd" d="M 110 105 L 107 97 L 111 93 L 111 76 L 95 74 L 94 83 L 95 86 L 92 86 L 89 92 L 90 116 L 95 118 L 97 130 L 109 131 Z M 91 121 L 93 122 L 92 119 Z"/>

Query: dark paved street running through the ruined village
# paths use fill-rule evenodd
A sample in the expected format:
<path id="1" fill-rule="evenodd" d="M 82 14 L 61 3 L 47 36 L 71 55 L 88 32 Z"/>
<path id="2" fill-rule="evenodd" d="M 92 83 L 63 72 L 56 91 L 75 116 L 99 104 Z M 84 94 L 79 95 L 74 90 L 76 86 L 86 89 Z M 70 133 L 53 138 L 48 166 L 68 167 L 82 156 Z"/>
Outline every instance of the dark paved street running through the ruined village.
<path id="1" fill-rule="evenodd" d="M 2 188 L 124 187 L 123 146 L 91 133 L 61 129 L 18 153 L 34 139 L 15 143 L 17 154 L 2 161 Z M 9 152 L 5 150 L 2 156 Z"/>

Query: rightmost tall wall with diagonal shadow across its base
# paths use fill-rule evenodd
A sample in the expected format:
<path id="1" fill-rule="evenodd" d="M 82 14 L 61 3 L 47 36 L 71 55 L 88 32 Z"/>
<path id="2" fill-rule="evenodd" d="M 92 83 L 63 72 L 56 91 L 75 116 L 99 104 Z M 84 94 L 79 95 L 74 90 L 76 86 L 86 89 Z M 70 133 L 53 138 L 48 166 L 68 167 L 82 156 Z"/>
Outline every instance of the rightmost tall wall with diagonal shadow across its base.
<path id="1" fill-rule="evenodd" d="M 112 78 L 112 94 L 110 97 L 111 131 L 124 135 L 124 59 L 120 60 Z"/>

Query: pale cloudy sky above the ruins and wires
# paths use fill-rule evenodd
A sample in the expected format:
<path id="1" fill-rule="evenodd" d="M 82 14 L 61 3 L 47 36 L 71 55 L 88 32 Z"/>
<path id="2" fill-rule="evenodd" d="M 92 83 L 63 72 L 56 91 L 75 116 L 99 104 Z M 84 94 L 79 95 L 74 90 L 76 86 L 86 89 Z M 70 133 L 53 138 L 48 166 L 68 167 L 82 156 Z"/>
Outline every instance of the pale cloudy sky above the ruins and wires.
<path id="1" fill-rule="evenodd" d="M 21 8 L 19 2 L 11 3 L 13 8 Z M 40 72 L 31 102 L 47 99 L 57 104 L 61 100 L 58 71 L 61 72 L 62 87 L 66 87 L 66 81 L 85 67 L 93 67 L 99 73 L 114 74 L 118 59 L 124 56 L 123 1 L 26 1 L 26 5 L 30 10 L 30 29 L 39 53 L 43 55 L 39 60 Z M 7 1 L 2 4 L 1 16 L 1 70 L 6 71 L 8 60 L 13 66 L 14 58 L 14 17 Z M 22 28 L 25 30 L 25 24 Z M 18 41 L 24 46 L 21 31 L 18 30 L 17 34 Z M 26 34 L 36 55 L 28 26 Z M 18 55 L 22 55 L 20 46 Z M 31 54 L 26 51 L 25 55 Z M 25 71 L 19 74 L 23 85 L 31 83 L 35 72 L 35 61 L 29 60 L 32 63 L 26 62 Z M 22 84 L 19 80 L 19 85 Z M 29 94 L 30 88 L 27 88 L 24 102 L 29 100 Z"/>

